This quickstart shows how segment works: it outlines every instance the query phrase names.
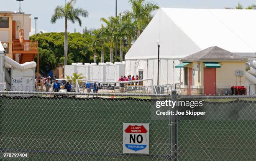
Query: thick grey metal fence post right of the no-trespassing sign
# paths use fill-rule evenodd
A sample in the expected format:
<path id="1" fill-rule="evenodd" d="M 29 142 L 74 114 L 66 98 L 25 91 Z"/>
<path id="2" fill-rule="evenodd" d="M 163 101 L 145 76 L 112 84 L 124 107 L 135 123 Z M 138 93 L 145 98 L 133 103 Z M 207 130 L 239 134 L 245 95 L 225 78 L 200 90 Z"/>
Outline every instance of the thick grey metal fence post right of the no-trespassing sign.
<path id="1" fill-rule="evenodd" d="M 177 100 L 177 91 L 176 89 L 173 89 L 171 91 L 171 97 L 172 97 L 172 101 L 176 101 Z M 170 107 L 171 108 L 171 107 Z M 177 107 L 174 106 L 173 110 L 170 109 L 170 111 L 174 111 L 174 114 L 176 113 Z M 170 159 L 172 161 L 177 161 L 177 156 L 178 156 L 178 131 L 177 131 L 177 115 L 169 115 L 169 134 L 170 134 L 170 145 L 171 145 L 171 157 Z"/>

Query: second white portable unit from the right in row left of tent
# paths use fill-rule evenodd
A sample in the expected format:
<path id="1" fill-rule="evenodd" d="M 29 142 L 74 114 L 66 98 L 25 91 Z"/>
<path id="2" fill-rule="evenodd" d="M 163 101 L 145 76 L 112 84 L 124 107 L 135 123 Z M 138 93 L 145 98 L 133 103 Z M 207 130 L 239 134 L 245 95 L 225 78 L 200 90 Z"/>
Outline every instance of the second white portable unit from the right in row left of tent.
<path id="1" fill-rule="evenodd" d="M 91 81 L 106 81 L 106 64 L 91 63 L 90 65 L 90 80 Z"/>

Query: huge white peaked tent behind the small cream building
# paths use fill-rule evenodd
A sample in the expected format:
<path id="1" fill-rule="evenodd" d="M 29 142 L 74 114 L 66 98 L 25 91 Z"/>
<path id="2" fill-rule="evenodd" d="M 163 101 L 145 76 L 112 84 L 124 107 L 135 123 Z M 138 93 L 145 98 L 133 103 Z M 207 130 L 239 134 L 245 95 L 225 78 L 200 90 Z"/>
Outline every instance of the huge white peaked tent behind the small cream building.
<path id="1" fill-rule="evenodd" d="M 256 58 L 256 10 L 161 8 L 125 55 L 125 75 L 154 78 L 157 83 L 157 40 L 160 40 L 160 84 L 179 83 L 179 58 L 218 46 Z M 250 82 L 249 82 L 250 83 Z"/>

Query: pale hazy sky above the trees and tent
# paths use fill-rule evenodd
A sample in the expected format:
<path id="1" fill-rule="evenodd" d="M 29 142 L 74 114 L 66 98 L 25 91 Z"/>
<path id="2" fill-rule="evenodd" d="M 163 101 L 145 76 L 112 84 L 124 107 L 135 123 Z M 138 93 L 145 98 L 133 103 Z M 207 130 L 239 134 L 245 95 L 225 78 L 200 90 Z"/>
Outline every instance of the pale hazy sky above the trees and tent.
<path id="1" fill-rule="evenodd" d="M 0 0 L 0 11 L 18 11 L 19 3 L 16 0 Z M 68 0 L 67 0 L 68 1 Z M 244 7 L 256 3 L 255 0 L 146 0 L 157 3 L 165 8 L 209 8 L 223 9 L 225 7 L 235 7 L 240 2 Z M 118 13 L 131 9 L 128 0 L 117 0 Z M 31 14 L 31 35 L 35 33 L 34 17 L 38 17 L 37 31 L 63 32 L 64 19 L 57 20 L 56 24 L 51 24 L 51 15 L 54 8 L 64 5 L 65 0 L 24 0 L 21 2 L 21 9 L 25 13 Z M 115 16 L 115 0 L 77 0 L 75 7 L 84 8 L 89 12 L 88 18 L 82 18 L 82 27 L 78 23 L 68 23 L 68 31 L 82 32 L 86 26 L 89 28 L 100 28 L 102 22 L 100 18 Z"/>

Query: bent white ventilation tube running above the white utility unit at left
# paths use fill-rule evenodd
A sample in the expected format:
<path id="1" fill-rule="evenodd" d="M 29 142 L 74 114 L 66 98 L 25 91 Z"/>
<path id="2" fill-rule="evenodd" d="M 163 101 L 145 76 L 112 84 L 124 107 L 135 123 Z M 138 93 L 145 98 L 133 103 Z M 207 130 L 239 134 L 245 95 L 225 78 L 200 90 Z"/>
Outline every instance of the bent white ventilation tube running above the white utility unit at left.
<path id="1" fill-rule="evenodd" d="M 9 58 L 8 56 L 5 56 L 5 62 L 13 68 L 19 69 L 19 70 L 26 70 L 26 69 L 31 69 L 31 68 L 36 68 L 36 62 L 26 62 L 24 64 L 17 63 L 13 59 Z"/>

